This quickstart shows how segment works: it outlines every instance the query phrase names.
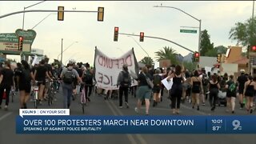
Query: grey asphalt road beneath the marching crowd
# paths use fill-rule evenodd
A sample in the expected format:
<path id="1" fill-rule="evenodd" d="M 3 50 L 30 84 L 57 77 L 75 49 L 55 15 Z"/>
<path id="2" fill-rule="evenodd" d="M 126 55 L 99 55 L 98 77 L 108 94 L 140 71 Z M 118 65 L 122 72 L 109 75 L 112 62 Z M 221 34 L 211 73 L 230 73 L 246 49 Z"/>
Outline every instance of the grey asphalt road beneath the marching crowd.
<path id="1" fill-rule="evenodd" d="M 62 108 L 62 92 L 57 95 L 58 101 L 52 106 L 43 102 L 39 108 Z M 130 108 L 118 108 L 118 99 L 104 100 L 101 95 L 94 94 L 90 97 L 91 102 L 86 106 L 86 115 L 137 115 L 134 107 L 137 98 L 129 96 Z M 237 100 L 238 101 L 238 100 Z M 167 93 L 164 94 L 163 102 L 157 107 L 150 106 L 150 115 L 172 115 L 170 100 Z M 3 106 L 3 105 L 2 105 Z M 256 134 L 16 134 L 15 118 L 18 116 L 18 96 L 14 102 L 10 102 L 8 111 L 0 110 L 0 144 L 70 144 L 70 143 L 122 143 L 122 144 L 256 144 Z M 33 108 L 33 102 L 29 102 L 28 108 Z M 145 110 L 145 109 L 142 109 Z M 208 102 L 206 106 L 200 106 L 200 110 L 192 109 L 189 102 L 182 104 L 179 115 L 231 115 L 226 113 L 224 106 L 217 106 L 212 112 Z M 70 106 L 71 115 L 82 115 L 82 108 L 78 98 Z M 254 114 L 256 114 L 254 112 Z M 145 116 L 144 114 L 141 114 Z M 246 110 L 239 110 L 236 106 L 235 115 L 246 115 Z M 177 115 L 178 117 L 178 115 Z"/>

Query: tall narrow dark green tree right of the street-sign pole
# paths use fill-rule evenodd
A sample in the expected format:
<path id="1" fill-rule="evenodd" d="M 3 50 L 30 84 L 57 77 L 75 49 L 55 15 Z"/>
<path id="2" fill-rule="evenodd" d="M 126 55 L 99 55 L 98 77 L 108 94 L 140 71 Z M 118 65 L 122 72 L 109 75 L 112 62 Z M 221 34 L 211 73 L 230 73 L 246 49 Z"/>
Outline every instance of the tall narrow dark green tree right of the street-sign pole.
<path id="1" fill-rule="evenodd" d="M 207 30 L 203 30 L 201 35 L 200 55 L 207 56 L 206 53 L 213 49 L 214 43 L 210 43 L 210 35 Z"/>

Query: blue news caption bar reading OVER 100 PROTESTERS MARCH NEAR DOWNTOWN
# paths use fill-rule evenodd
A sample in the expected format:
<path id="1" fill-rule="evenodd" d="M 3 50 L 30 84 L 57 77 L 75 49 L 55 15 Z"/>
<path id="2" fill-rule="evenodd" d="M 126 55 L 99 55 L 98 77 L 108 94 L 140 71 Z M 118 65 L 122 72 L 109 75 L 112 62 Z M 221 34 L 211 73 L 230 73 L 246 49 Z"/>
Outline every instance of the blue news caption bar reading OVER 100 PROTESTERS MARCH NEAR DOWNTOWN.
<path id="1" fill-rule="evenodd" d="M 21 109 L 17 134 L 256 134 L 256 115 L 71 116 L 66 109 Z"/>

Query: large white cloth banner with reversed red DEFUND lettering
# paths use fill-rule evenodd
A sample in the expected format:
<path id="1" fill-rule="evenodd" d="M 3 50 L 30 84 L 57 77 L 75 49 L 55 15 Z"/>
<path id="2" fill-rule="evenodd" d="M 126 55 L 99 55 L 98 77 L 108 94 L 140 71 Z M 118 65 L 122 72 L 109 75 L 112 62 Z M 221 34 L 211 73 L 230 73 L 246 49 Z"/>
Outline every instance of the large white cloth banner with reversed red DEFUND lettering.
<path id="1" fill-rule="evenodd" d="M 95 48 L 94 71 L 97 82 L 96 86 L 106 90 L 117 90 L 118 74 L 122 71 L 124 64 L 128 65 L 128 70 L 133 76 L 131 77 L 132 86 L 138 85 L 138 82 L 134 80 L 136 74 L 138 75 L 138 62 L 134 49 L 129 50 L 120 58 L 109 58 L 106 54 Z"/>

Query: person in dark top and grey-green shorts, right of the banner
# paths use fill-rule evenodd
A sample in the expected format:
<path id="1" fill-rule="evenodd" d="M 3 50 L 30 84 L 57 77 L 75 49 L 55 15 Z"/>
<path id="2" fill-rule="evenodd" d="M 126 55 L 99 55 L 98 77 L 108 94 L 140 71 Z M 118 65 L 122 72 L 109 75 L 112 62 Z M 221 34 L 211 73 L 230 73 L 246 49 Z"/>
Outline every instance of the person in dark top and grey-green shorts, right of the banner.
<path id="1" fill-rule="evenodd" d="M 142 100 L 145 99 L 146 103 L 146 115 L 149 114 L 150 109 L 150 96 L 151 96 L 151 90 L 150 86 L 148 86 L 146 82 L 146 78 L 152 78 L 150 77 L 150 74 L 148 73 L 148 69 L 146 66 L 142 68 L 142 72 L 138 75 L 138 90 L 137 90 L 137 96 L 138 96 L 138 102 L 137 107 L 135 107 L 136 113 L 139 113 L 141 106 L 142 106 Z"/>

